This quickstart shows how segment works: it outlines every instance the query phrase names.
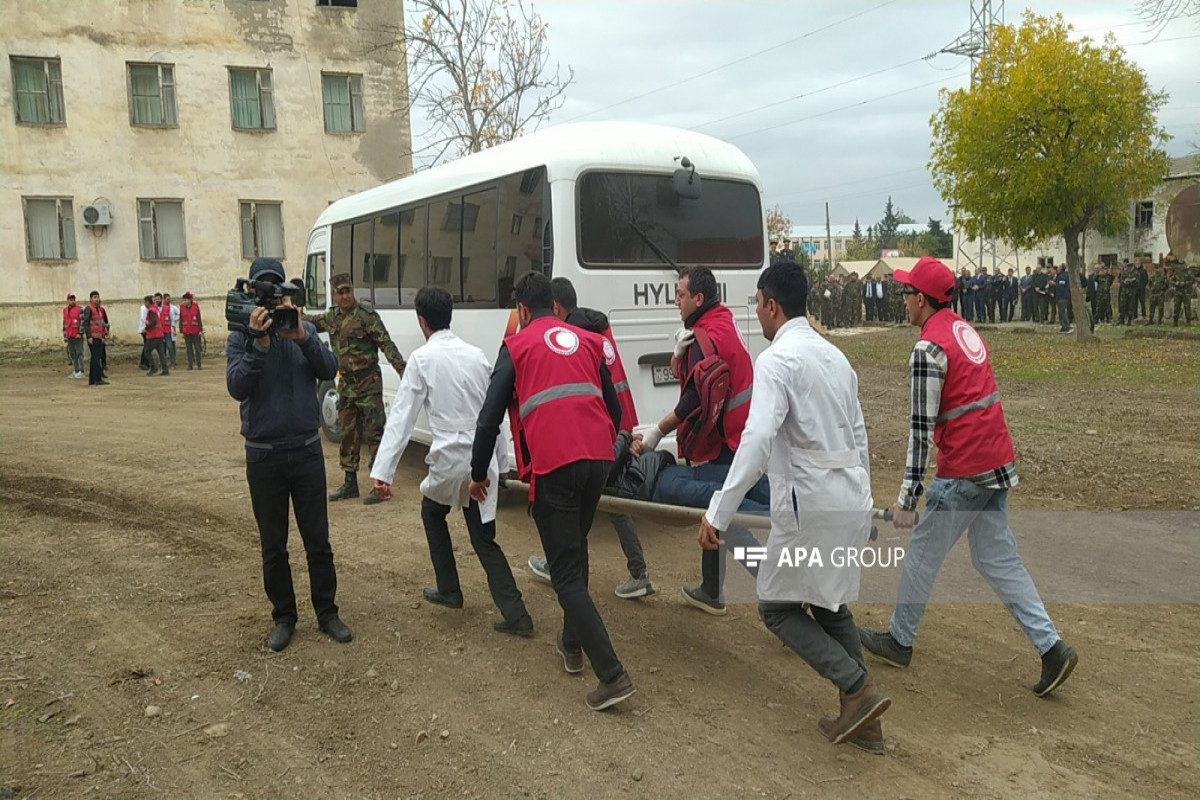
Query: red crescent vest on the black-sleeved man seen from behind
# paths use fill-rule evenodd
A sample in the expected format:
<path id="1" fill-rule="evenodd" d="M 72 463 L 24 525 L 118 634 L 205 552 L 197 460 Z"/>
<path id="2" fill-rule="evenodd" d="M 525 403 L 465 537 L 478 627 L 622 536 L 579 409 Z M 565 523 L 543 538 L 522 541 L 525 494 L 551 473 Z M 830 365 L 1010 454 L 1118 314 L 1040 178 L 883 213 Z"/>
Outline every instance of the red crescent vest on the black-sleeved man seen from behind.
<path id="1" fill-rule="evenodd" d="M 514 444 L 528 456 L 524 470 L 545 475 L 576 461 L 612 461 L 617 432 L 600 389 L 604 339 L 546 315 L 505 345 L 516 371 L 521 440 Z"/>

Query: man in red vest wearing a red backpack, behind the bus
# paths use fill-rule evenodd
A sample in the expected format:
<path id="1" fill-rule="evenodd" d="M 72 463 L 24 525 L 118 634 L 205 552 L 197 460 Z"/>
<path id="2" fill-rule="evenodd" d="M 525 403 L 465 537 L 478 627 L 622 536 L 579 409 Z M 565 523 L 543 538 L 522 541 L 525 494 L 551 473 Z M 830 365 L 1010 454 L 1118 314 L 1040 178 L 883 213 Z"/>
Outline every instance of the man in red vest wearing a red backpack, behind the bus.
<path id="1" fill-rule="evenodd" d="M 733 312 L 720 300 L 716 277 L 707 266 L 695 266 L 679 278 L 679 284 L 676 287 L 676 306 L 679 308 L 680 319 L 683 319 L 684 335 L 679 338 L 676 347 L 676 359 L 671 365 L 680 379 L 679 402 L 674 410 L 643 435 L 641 441 L 641 446 L 646 451 L 653 451 L 662 437 L 679 428 L 688 415 L 700 408 L 700 395 L 695 386 L 688 381 L 688 374 L 704 359 L 703 349 L 695 339 L 695 331 L 704 331 L 716 350 L 716 355 L 730 367 L 730 399 L 720 411 L 718 426 L 720 438 L 698 444 L 700 450 L 694 452 L 684 452 L 680 446 L 679 456 L 689 462 L 703 462 L 700 467 L 692 468 L 692 479 L 715 485 L 725 482 L 725 477 L 730 473 L 730 464 L 733 463 L 733 453 L 742 441 L 742 429 L 745 428 L 746 416 L 750 413 L 750 387 L 754 384 L 754 365 L 750 361 L 750 351 L 746 349 L 745 339 L 733 319 Z M 770 503 L 769 495 L 763 497 L 757 492 L 748 497 L 766 505 Z M 748 530 L 733 528 L 724 533 L 731 546 L 734 543 L 750 547 L 758 545 Z M 726 613 L 725 601 L 721 599 L 724 558 L 724 551 L 704 551 L 701 555 L 701 584 L 683 588 L 684 600 L 716 616 Z"/>

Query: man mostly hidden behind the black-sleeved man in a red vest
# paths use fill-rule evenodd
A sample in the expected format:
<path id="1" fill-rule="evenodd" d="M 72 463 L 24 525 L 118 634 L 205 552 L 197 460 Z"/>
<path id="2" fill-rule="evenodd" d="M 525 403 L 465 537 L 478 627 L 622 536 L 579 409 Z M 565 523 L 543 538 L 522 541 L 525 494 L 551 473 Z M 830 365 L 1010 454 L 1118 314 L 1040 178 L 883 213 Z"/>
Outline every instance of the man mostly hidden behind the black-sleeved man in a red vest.
<path id="1" fill-rule="evenodd" d="M 617 429 L 632 434 L 634 428 L 637 427 L 637 409 L 634 408 L 634 392 L 629 389 L 629 378 L 625 375 L 625 366 L 620 362 L 620 354 L 617 351 L 617 342 L 612 337 L 608 318 L 594 308 L 581 308 L 578 296 L 575 294 L 575 285 L 568 278 L 554 278 L 550 285 L 554 293 L 556 317 L 564 323 L 604 337 L 605 365 L 608 367 L 608 374 L 612 375 L 613 386 L 617 389 L 617 399 L 620 402 L 620 422 L 617 425 Z M 646 555 L 642 552 L 642 542 L 637 539 L 634 518 L 628 513 L 611 513 L 608 522 L 617 531 L 617 540 L 625 554 L 625 566 L 629 569 L 629 579 L 618 585 L 613 594 L 623 600 L 653 595 L 654 587 L 646 571 Z M 542 581 L 550 581 L 546 557 L 530 555 L 529 570 Z"/>

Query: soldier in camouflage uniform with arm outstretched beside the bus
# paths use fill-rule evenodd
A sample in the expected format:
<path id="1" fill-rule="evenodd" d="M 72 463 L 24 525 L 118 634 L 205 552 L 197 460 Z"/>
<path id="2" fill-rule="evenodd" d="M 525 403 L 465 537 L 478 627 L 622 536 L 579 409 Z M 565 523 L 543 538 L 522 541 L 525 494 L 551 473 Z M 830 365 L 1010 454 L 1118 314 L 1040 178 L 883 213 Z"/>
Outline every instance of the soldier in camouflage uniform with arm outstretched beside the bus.
<path id="1" fill-rule="evenodd" d="M 366 441 L 374 461 L 386 421 L 383 411 L 383 373 L 379 350 L 396 369 L 404 373 L 404 357 L 392 344 L 388 329 L 373 308 L 359 305 L 350 276 L 341 272 L 330 282 L 337 306 L 323 314 L 305 317 L 318 331 L 329 333 L 337 356 L 341 380 L 337 385 L 337 425 L 342 429 L 338 451 L 346 482 L 329 495 L 330 500 L 359 497 L 359 451 Z M 365 505 L 379 503 L 374 489 L 362 499 Z"/>

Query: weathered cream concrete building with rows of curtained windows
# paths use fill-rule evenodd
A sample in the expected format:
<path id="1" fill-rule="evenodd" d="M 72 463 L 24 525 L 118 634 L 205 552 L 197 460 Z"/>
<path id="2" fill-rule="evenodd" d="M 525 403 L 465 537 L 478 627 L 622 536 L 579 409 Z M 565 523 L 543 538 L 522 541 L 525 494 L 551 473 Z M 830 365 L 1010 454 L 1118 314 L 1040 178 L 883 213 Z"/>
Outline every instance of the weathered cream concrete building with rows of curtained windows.
<path id="1" fill-rule="evenodd" d="M 7 0 L 0 337 L 59 339 L 98 290 L 196 293 L 209 335 L 257 255 L 304 273 L 332 200 L 412 172 L 392 0 Z"/>

